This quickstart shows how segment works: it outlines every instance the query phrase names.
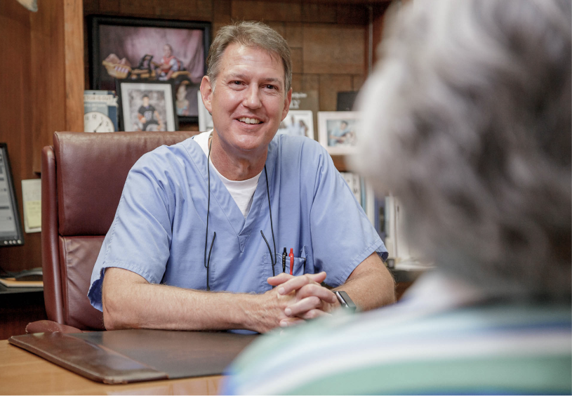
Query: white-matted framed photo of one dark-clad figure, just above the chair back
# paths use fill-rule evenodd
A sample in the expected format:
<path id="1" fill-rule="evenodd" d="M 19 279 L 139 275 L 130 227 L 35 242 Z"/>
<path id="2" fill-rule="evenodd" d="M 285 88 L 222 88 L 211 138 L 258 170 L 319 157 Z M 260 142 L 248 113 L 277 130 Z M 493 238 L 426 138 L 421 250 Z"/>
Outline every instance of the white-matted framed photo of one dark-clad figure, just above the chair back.
<path id="1" fill-rule="evenodd" d="M 168 82 L 117 81 L 121 126 L 126 132 L 176 131 L 173 85 Z"/>

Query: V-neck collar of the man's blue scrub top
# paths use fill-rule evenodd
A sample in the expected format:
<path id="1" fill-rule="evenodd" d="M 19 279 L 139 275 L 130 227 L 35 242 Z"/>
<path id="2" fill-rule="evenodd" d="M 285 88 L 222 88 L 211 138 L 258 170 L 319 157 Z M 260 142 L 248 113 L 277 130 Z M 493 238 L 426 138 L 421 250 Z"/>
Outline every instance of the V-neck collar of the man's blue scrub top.
<path id="1" fill-rule="evenodd" d="M 234 233 L 239 237 L 239 239 L 241 239 L 241 246 L 246 242 L 245 239 L 248 238 L 248 235 L 253 231 L 253 227 L 257 223 L 258 215 L 260 214 L 262 202 L 265 202 L 267 199 L 266 178 L 268 178 L 268 186 L 270 188 L 270 193 L 272 194 L 271 181 L 274 171 L 274 159 L 276 158 L 277 152 L 276 145 L 277 143 L 274 140 L 272 140 L 270 145 L 268 145 L 268 154 L 265 163 L 267 174 L 265 170 L 262 169 L 262 174 L 260 174 L 260 178 L 258 178 L 258 185 L 256 186 L 256 190 L 253 195 L 251 210 L 248 212 L 246 219 L 240 211 L 239 206 L 234 201 L 234 198 L 232 198 L 232 195 L 228 192 L 225 184 L 220 180 L 214 166 L 208 163 L 207 157 L 199 143 L 193 140 L 192 144 L 189 145 L 189 154 L 191 155 L 195 166 L 197 166 L 197 169 L 201 173 L 201 176 L 204 178 L 206 189 L 208 189 L 207 166 L 211 167 L 211 210 L 213 208 L 213 204 L 216 204 L 219 206 L 220 210 L 225 213 Z M 208 191 L 206 193 L 208 194 Z"/>

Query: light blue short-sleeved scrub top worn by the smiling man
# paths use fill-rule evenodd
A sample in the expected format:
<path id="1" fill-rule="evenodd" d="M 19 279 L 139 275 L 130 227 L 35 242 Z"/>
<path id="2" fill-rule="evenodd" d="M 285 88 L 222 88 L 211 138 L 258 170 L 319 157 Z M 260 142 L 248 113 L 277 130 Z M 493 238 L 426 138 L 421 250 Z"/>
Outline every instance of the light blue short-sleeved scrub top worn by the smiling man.
<path id="1" fill-rule="evenodd" d="M 127 176 L 112 226 L 91 275 L 88 297 L 102 310 L 105 268 L 141 275 L 147 282 L 206 289 L 204 244 L 208 199 L 207 158 L 192 139 L 143 155 Z M 276 266 L 281 252 L 294 251 L 294 275 L 326 271 L 326 283 L 345 282 L 354 268 L 387 250 L 331 157 L 315 140 L 279 135 L 266 160 Z M 264 293 L 272 286 L 272 244 L 265 171 L 245 219 L 211 168 L 208 246 L 211 291 Z M 286 259 L 286 272 L 290 260 Z"/>

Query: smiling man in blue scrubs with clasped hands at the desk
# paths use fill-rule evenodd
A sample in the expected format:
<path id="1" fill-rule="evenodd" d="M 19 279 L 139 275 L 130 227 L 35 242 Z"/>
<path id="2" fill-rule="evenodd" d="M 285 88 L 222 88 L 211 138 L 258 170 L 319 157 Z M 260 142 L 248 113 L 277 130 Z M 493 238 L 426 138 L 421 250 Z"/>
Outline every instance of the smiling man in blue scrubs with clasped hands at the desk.
<path id="1" fill-rule="evenodd" d="M 126 180 L 88 292 L 106 328 L 265 332 L 338 308 L 321 282 L 362 310 L 394 302 L 385 246 L 327 152 L 274 138 L 292 93 L 286 41 L 230 25 L 207 63 L 213 131 L 145 154 Z"/>

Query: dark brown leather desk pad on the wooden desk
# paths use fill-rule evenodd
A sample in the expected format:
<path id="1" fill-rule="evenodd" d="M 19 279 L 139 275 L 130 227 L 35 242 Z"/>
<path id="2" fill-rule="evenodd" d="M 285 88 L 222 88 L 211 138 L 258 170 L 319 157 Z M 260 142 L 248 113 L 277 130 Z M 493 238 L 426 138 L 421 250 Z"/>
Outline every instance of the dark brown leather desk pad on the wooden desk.
<path id="1" fill-rule="evenodd" d="M 223 374 L 255 337 L 133 329 L 26 334 L 8 342 L 93 381 L 131 383 Z"/>

